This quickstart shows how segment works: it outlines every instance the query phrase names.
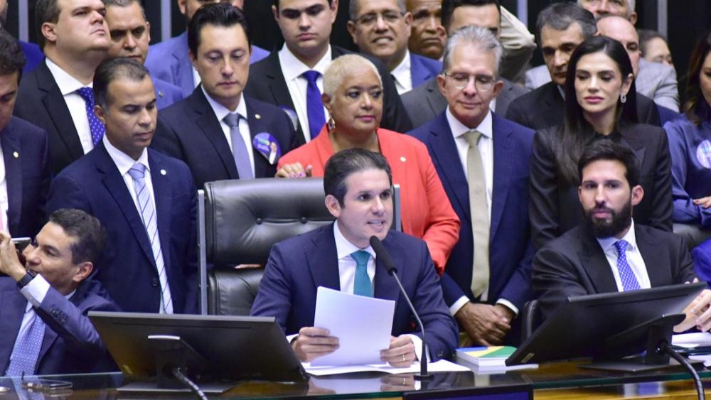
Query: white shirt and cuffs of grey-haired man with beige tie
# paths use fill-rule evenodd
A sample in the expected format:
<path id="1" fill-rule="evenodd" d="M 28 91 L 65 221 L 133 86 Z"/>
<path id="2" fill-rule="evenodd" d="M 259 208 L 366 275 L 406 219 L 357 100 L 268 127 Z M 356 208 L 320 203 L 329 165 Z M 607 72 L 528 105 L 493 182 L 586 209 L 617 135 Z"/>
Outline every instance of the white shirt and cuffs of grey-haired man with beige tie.
<path id="1" fill-rule="evenodd" d="M 493 118 L 491 117 L 491 110 L 486 113 L 486 117 L 484 117 L 479 126 L 474 128 L 469 128 L 462 124 L 459 119 L 456 119 L 454 115 L 451 114 L 449 107 L 447 107 L 446 114 L 449 129 L 451 130 L 452 136 L 454 136 L 456 151 L 459 154 L 461 169 L 464 171 L 464 176 L 467 180 L 469 180 L 469 173 L 466 171 L 466 156 L 469 152 L 469 142 L 464 139 L 464 134 L 471 129 L 476 129 L 481 132 L 481 139 L 479 139 L 477 147 L 479 148 L 479 154 L 481 154 L 481 161 L 483 163 L 484 184 L 486 185 L 486 207 L 488 207 L 489 220 L 491 220 L 491 198 L 493 193 Z M 487 300 L 488 288 L 481 293 L 480 298 L 481 301 Z M 454 314 L 468 302 L 469 298 L 461 296 L 461 298 L 449 307 L 449 313 L 454 316 Z M 513 313 L 518 314 L 518 308 L 506 300 L 506 298 L 499 298 L 496 303 L 502 304 L 512 310 Z"/>

